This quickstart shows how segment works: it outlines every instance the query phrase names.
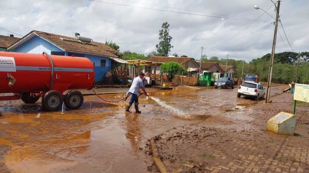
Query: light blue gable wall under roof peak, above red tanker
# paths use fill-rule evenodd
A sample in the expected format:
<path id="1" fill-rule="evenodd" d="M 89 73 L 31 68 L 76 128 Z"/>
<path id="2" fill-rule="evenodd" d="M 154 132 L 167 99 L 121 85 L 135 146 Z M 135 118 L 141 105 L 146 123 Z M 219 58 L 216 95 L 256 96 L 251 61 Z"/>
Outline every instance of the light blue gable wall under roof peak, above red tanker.
<path id="1" fill-rule="evenodd" d="M 51 51 L 63 52 L 63 50 L 59 49 L 57 46 L 54 46 L 50 42 L 38 36 L 35 36 L 22 45 L 18 46 L 15 51 L 32 54 L 42 54 L 43 51 L 48 54 L 50 54 Z"/>

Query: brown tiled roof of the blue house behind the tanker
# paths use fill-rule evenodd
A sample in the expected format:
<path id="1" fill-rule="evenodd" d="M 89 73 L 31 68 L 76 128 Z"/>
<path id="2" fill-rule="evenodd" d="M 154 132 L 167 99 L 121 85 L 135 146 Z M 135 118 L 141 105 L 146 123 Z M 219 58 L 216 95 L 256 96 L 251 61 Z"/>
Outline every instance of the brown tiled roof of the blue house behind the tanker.
<path id="1" fill-rule="evenodd" d="M 51 42 L 52 44 L 56 45 L 57 47 L 61 48 L 65 51 L 74 51 L 74 52 L 81 52 L 81 53 L 90 53 L 90 54 L 98 54 L 112 58 L 118 58 L 116 53 L 118 51 L 114 50 L 113 48 L 100 43 L 100 42 L 91 42 L 91 44 L 84 44 L 81 42 L 77 42 L 72 37 L 67 37 L 58 34 L 51 34 L 42 31 L 33 30 L 23 38 L 28 37 L 31 34 L 36 34 L 41 38 Z M 21 38 L 21 40 L 23 39 Z M 61 39 L 63 38 L 63 40 Z M 114 54 L 115 53 L 115 54 Z"/>

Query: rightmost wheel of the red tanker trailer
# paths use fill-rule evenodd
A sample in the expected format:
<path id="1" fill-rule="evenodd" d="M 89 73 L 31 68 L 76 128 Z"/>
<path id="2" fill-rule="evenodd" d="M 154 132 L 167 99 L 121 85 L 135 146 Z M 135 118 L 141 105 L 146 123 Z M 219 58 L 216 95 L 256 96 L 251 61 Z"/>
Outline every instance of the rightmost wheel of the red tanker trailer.
<path id="1" fill-rule="evenodd" d="M 79 91 L 69 91 L 64 96 L 64 104 L 69 109 L 78 109 L 84 102 L 83 94 Z"/>

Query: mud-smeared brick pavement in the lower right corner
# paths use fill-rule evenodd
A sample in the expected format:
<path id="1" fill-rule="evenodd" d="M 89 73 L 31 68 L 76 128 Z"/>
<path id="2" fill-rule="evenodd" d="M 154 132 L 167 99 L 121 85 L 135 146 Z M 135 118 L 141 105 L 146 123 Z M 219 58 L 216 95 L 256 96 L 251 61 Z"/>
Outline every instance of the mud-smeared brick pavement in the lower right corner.
<path id="1" fill-rule="evenodd" d="M 177 127 L 170 132 L 157 141 L 170 172 L 309 172 L 308 139 L 267 131 L 231 135 L 231 130 L 208 127 Z M 214 158 L 203 158 L 201 153 Z M 182 166 L 181 161 L 195 167 Z"/>

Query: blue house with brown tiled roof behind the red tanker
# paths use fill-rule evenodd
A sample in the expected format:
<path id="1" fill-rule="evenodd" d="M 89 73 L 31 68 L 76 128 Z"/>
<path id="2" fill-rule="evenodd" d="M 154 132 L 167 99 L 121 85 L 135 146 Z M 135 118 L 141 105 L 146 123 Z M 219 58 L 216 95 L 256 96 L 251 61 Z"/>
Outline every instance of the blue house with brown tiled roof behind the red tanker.
<path id="1" fill-rule="evenodd" d="M 52 55 L 86 57 L 91 60 L 95 68 L 95 82 L 102 80 L 113 62 L 127 64 L 128 62 L 117 57 L 118 51 L 90 38 L 75 34 L 74 38 L 63 35 L 50 34 L 33 30 L 19 41 L 8 47 L 15 52 Z"/>

